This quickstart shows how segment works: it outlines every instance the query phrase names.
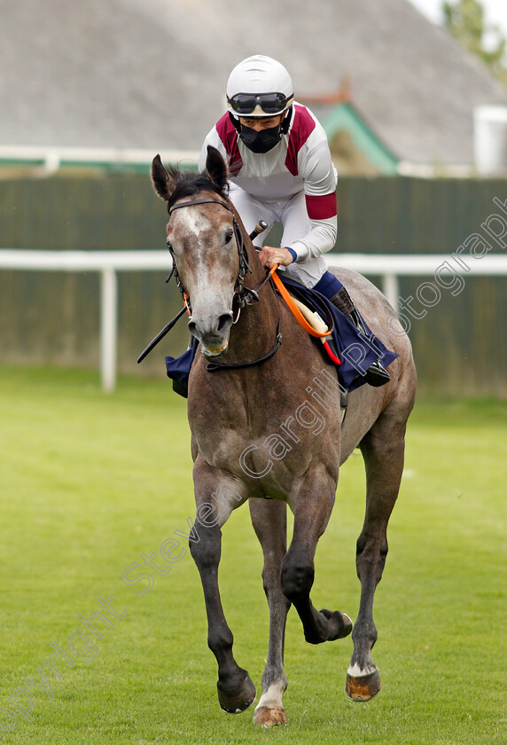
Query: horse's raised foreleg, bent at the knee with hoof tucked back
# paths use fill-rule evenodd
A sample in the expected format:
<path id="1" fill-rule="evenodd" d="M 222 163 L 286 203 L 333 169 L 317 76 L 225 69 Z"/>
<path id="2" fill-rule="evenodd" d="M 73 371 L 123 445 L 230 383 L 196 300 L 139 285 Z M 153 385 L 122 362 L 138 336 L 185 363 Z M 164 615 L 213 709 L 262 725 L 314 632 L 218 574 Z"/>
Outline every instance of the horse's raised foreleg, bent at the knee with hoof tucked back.
<path id="1" fill-rule="evenodd" d="M 352 621 L 345 613 L 323 608 L 318 611 L 310 600 L 314 583 L 314 557 L 319 537 L 331 516 L 336 482 L 316 467 L 308 474 L 295 504 L 292 543 L 282 562 L 282 589 L 291 600 L 303 624 L 310 644 L 342 639 L 352 631 Z"/>

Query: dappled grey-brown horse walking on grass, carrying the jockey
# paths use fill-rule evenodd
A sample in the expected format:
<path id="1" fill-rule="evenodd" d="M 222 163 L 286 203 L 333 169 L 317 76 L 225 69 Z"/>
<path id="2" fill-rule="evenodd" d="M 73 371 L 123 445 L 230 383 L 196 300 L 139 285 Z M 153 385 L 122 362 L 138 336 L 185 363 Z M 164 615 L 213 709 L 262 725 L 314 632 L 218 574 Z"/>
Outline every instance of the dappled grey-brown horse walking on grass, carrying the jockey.
<path id="1" fill-rule="evenodd" d="M 264 555 L 269 603 L 269 651 L 253 722 L 270 726 L 287 722 L 282 696 L 291 604 L 311 644 L 352 631 L 347 694 L 355 701 L 378 694 L 380 677 L 371 658 L 377 640 L 373 597 L 402 479 L 416 371 L 409 340 L 384 296 L 359 274 L 336 270 L 370 328 L 381 332 L 398 354 L 389 365 L 390 382 L 381 388 L 363 385 L 349 394 L 342 424 L 336 368 L 266 283 L 227 197 L 227 177 L 214 148 L 208 149 L 202 174 L 166 169 L 160 156 L 152 162 L 155 191 L 168 202 L 168 247 L 188 302 L 189 328 L 199 340 L 188 393 L 196 501 L 190 546 L 204 589 L 208 646 L 218 663 L 219 702 L 223 710 L 237 713 L 256 696 L 252 679 L 232 652 L 217 577 L 222 526 L 248 500 Z M 367 490 L 356 548 L 361 601 L 353 628 L 345 613 L 316 610 L 310 591 L 316 545 L 331 516 L 339 466 L 357 447 Z M 294 518 L 288 550 L 286 505 Z"/>

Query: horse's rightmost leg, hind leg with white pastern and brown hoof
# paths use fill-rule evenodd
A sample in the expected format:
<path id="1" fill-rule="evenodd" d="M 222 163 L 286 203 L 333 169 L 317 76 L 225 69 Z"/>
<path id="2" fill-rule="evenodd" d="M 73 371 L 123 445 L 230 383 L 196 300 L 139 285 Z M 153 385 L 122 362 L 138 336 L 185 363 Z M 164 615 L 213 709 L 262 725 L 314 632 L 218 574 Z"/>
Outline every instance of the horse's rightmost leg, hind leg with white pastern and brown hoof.
<path id="1" fill-rule="evenodd" d="M 386 420 L 378 421 L 361 443 L 367 485 L 366 512 L 355 558 L 361 602 L 352 631 L 354 653 L 345 686 L 353 701 L 369 701 L 380 690 L 380 675 L 371 659 L 371 648 L 378 637 L 373 598 L 386 564 L 387 523 L 402 480 L 404 431 L 405 427 L 386 427 Z"/>

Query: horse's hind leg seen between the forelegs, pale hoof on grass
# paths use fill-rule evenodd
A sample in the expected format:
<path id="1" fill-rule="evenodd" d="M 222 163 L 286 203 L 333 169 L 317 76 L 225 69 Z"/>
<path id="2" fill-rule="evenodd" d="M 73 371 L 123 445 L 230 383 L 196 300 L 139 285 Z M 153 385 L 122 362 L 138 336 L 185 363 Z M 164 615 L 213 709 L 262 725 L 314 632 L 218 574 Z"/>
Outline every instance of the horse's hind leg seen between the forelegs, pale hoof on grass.
<path id="1" fill-rule="evenodd" d="M 284 670 L 285 622 L 291 603 L 282 592 L 280 567 L 287 550 L 287 507 L 285 502 L 250 499 L 253 529 L 262 546 L 262 584 L 269 605 L 269 649 L 262 674 L 262 695 L 255 708 L 256 725 L 285 725 L 282 696 L 287 687 Z"/>

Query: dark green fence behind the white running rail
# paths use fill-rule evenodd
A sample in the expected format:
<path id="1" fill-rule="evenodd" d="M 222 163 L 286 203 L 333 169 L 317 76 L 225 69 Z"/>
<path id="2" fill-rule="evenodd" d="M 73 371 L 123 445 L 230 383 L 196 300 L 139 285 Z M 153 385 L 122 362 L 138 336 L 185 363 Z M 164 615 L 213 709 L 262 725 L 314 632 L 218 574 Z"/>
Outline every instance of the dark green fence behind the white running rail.
<path id="1" fill-rule="evenodd" d="M 481 226 L 499 211 L 494 197 L 507 199 L 507 181 L 343 178 L 335 252 L 450 256 L 474 233 L 487 237 Z M 0 181 L 0 247 L 163 249 L 166 222 L 148 176 Z M 490 243 L 491 254 L 505 253 Z M 141 367 L 136 357 L 179 308 L 175 286 L 161 272 L 119 278 L 119 369 L 163 375 L 164 354 L 186 347 L 183 320 Z M 403 278 L 402 298 L 429 279 Z M 411 319 L 420 388 L 506 396 L 507 278 L 465 275 L 464 283 Z M 0 318 L 0 361 L 98 366 L 95 273 L 0 271 Z"/>

